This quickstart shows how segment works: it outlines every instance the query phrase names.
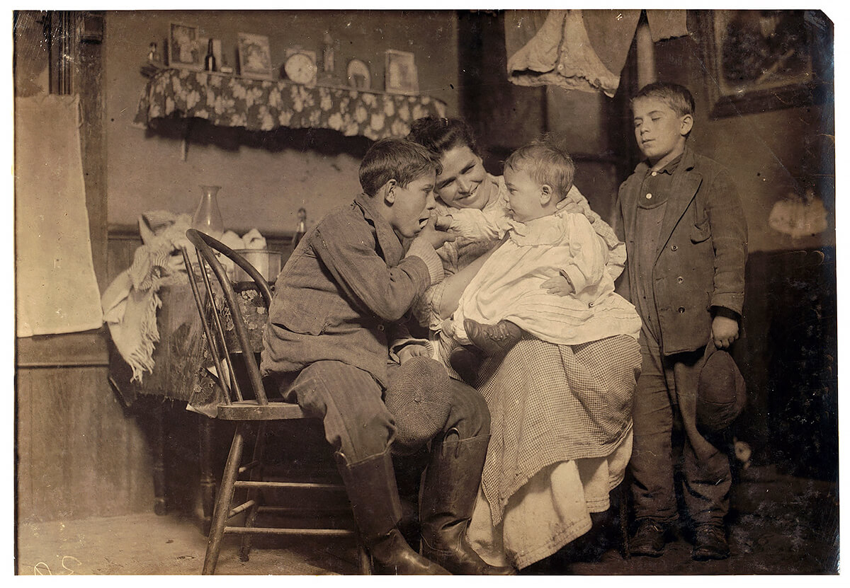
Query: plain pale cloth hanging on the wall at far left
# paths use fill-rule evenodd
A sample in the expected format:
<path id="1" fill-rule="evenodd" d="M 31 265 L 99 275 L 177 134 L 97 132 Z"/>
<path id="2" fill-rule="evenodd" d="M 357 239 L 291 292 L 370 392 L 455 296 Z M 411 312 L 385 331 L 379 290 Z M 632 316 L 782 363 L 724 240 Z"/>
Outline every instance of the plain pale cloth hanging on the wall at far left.
<path id="1" fill-rule="evenodd" d="M 77 96 L 15 99 L 17 336 L 99 329 Z"/>

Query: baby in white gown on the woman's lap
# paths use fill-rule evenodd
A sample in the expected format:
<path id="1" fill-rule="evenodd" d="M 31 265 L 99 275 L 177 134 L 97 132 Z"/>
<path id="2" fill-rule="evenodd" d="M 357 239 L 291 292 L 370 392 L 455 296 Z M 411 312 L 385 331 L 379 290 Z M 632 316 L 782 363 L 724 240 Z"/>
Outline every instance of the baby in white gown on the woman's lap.
<path id="1" fill-rule="evenodd" d="M 507 158 L 503 175 L 502 206 L 438 219 L 458 235 L 502 239 L 447 320 L 440 355 L 473 382 L 484 356 L 506 353 L 524 333 L 562 345 L 617 335 L 637 340 L 641 319 L 615 294 L 605 270 L 608 246 L 584 214 L 562 202 L 575 177 L 570 155 L 545 142 L 528 144 Z M 543 286 L 556 277 L 563 286 Z"/>

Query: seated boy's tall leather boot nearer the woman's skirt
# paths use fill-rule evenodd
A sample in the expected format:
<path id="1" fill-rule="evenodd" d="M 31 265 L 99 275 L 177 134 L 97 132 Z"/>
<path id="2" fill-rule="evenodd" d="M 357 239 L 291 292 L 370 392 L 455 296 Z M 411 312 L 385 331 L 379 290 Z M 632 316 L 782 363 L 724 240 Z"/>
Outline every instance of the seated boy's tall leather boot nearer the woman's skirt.
<path id="1" fill-rule="evenodd" d="M 422 555 L 452 574 L 510 575 L 484 562 L 467 540 L 490 435 L 462 439 L 452 428 L 431 449 L 420 500 Z"/>

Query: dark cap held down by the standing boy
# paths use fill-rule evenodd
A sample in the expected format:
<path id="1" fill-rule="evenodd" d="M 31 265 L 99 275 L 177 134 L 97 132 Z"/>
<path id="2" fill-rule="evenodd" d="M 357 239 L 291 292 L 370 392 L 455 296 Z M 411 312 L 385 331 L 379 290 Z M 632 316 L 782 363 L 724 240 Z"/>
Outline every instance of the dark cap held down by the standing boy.
<path id="1" fill-rule="evenodd" d="M 744 410 L 744 376 L 732 356 L 711 342 L 700 369 L 696 395 L 696 422 L 702 433 L 717 433 L 732 424 Z"/>

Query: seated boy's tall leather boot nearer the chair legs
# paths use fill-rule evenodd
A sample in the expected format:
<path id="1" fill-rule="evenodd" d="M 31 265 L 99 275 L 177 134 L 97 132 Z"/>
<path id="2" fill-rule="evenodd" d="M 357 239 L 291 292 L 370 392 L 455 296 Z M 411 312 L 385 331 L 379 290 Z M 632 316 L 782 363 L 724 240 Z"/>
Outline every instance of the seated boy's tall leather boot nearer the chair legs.
<path id="1" fill-rule="evenodd" d="M 337 469 L 343 477 L 354 521 L 365 541 L 375 574 L 447 575 L 407 545 L 399 532 L 401 504 L 389 450 L 354 464 L 337 452 Z"/>

